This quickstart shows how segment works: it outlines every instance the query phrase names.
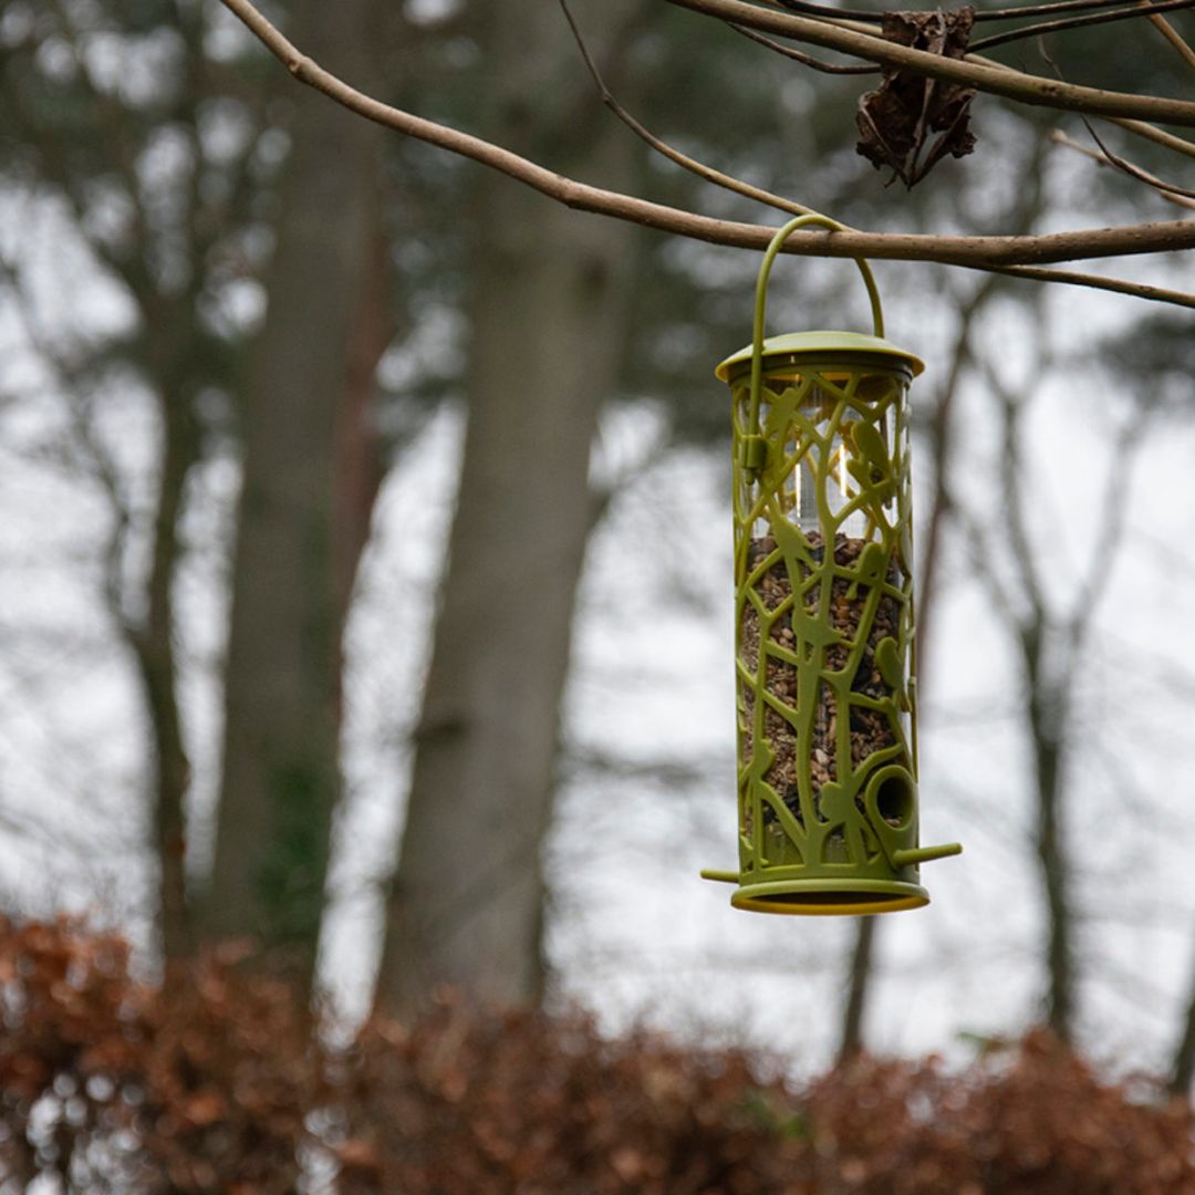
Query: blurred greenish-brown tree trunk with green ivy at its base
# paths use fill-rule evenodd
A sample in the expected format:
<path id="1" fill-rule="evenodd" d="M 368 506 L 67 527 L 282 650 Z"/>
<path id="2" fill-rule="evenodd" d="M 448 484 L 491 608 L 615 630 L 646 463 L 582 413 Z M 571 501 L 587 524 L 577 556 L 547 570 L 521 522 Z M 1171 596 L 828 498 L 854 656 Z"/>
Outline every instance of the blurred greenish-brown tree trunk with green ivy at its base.
<path id="1" fill-rule="evenodd" d="M 298 33 L 369 86 L 376 6 L 296 10 Z M 342 631 L 376 471 L 366 415 L 378 315 L 381 130 L 296 92 L 269 308 L 243 405 L 216 847 L 203 930 L 312 978 L 339 793 Z"/>

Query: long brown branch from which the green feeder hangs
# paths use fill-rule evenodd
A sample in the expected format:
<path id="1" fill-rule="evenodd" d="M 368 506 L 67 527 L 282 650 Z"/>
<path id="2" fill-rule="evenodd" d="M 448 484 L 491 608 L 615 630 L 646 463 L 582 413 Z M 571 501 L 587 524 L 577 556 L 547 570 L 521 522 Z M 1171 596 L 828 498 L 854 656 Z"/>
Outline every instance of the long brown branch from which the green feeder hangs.
<path id="1" fill-rule="evenodd" d="M 301 82 L 314 87 L 367 120 L 449 149 L 461 157 L 471 158 L 525 183 L 566 207 L 735 249 L 762 250 L 774 234 L 774 228 L 768 226 L 715 220 L 710 216 L 661 203 L 651 203 L 618 191 L 589 186 L 547 170 L 501 146 L 483 141 L 480 137 L 391 108 L 356 91 L 324 71 L 306 55 L 300 54 L 250 0 L 222 0 L 222 4 L 239 17 Z M 815 257 L 870 257 L 888 261 L 940 262 L 945 265 L 998 269 L 1000 271 L 1030 265 L 1035 272 L 1027 271 L 1025 277 L 1093 286 L 1098 289 L 1116 290 L 1121 294 L 1133 294 L 1140 298 L 1175 302 L 1179 306 L 1195 307 L 1195 295 L 1165 292 L 1157 287 L 1144 287 L 1130 282 L 1095 277 L 1089 280 L 1084 275 L 1067 275 L 1065 271 L 1041 271 L 1038 269 L 1042 264 L 1080 258 L 1168 252 L 1189 247 L 1195 247 L 1195 221 L 1130 225 L 1119 228 L 1048 233 L 1034 237 L 932 237 L 908 233 L 810 232 L 790 238 L 785 245 L 788 252 L 808 253 Z"/>

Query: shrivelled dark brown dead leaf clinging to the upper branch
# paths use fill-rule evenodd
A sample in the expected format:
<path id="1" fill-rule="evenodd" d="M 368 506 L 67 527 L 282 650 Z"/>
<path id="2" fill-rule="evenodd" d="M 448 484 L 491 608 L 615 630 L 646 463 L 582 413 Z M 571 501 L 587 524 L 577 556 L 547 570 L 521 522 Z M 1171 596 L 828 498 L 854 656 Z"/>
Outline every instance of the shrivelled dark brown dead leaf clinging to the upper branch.
<path id="1" fill-rule="evenodd" d="M 885 41 L 945 59 L 967 54 L 975 10 L 884 13 Z M 975 88 L 929 79 L 907 67 L 885 66 L 883 82 L 859 99 L 856 149 L 876 170 L 890 167 L 912 189 L 948 153 L 964 158 L 975 148 L 970 103 Z M 932 134 L 939 134 L 930 142 Z"/>

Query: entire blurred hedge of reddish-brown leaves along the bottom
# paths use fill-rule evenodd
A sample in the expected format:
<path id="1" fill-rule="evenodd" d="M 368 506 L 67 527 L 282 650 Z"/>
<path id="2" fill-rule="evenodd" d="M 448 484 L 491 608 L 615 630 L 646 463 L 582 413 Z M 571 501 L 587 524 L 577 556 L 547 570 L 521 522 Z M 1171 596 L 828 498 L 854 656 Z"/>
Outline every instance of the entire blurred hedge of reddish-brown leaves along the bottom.
<path id="1" fill-rule="evenodd" d="M 147 985 L 115 936 L 0 920 L 0 1191 L 1195 1191 L 1190 1107 L 1046 1034 L 963 1072 L 860 1058 L 797 1086 L 743 1052 L 446 995 L 331 1050 L 234 963 Z"/>

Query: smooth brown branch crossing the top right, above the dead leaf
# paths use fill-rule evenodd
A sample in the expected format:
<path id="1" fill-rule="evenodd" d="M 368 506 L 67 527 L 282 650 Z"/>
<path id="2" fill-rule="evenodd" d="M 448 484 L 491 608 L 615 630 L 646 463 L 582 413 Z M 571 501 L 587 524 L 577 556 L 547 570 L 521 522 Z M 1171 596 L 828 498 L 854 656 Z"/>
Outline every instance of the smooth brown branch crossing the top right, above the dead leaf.
<path id="1" fill-rule="evenodd" d="M 1023 104 L 1086 112 L 1091 116 L 1122 116 L 1195 127 L 1195 103 L 1190 100 L 1134 96 L 1103 91 L 1098 87 L 1060 84 L 999 63 L 975 60 L 969 55 L 964 59 L 948 59 L 940 54 L 915 50 L 874 35 L 840 29 L 826 20 L 774 12 L 743 4 L 742 0 L 667 0 L 667 2 L 731 24 L 748 25 L 765 33 L 792 37 L 884 66 L 902 67 L 929 79 L 963 84 Z"/>

